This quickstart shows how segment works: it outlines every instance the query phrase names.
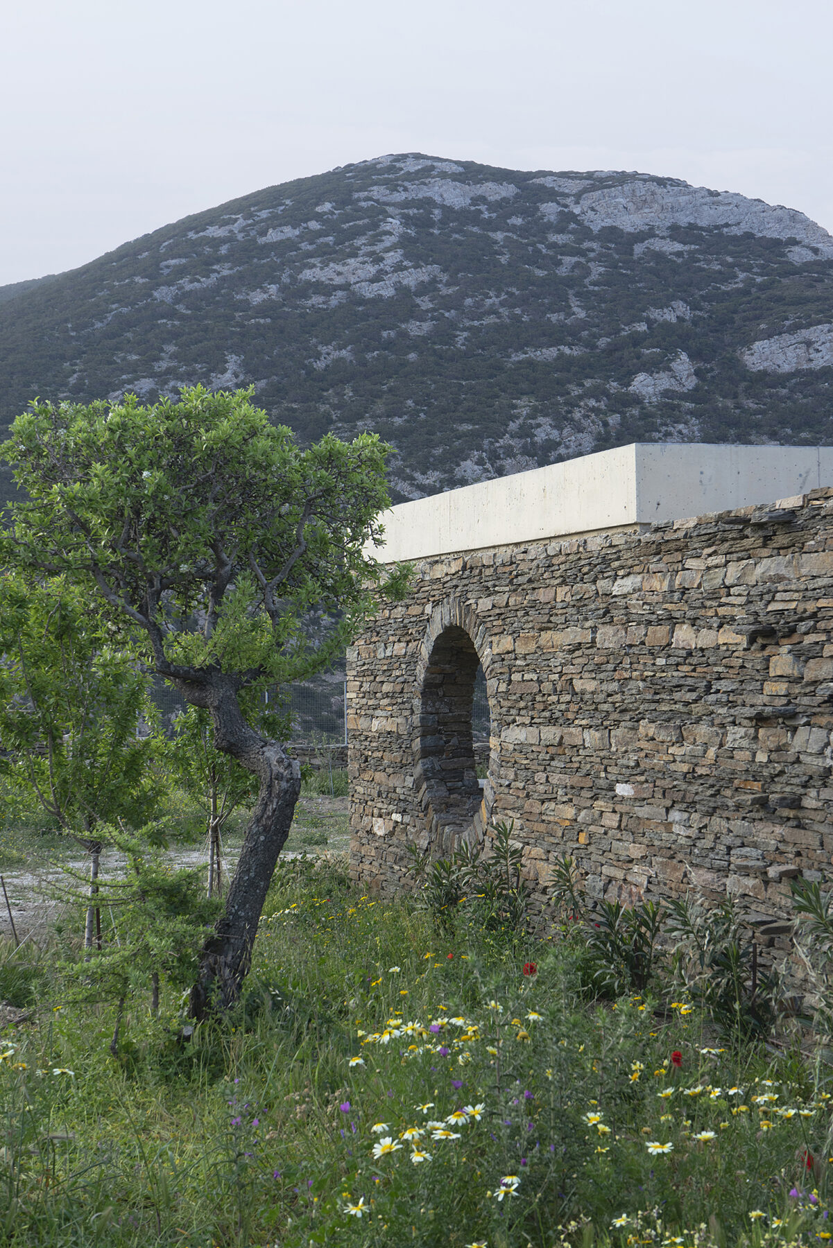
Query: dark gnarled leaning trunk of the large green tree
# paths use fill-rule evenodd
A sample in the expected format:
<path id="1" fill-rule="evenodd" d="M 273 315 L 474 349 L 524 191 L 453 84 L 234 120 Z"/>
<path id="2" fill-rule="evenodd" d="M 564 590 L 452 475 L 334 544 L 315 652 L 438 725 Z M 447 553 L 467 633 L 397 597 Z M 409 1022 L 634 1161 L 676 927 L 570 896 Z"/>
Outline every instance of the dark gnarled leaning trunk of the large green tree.
<path id="1" fill-rule="evenodd" d="M 250 728 L 227 678 L 215 674 L 199 691 L 194 686 L 184 686 L 182 691 L 189 701 L 211 711 L 215 746 L 260 779 L 257 802 L 224 911 L 202 946 L 197 981 L 191 988 L 190 1015 L 199 1020 L 226 1010 L 240 996 L 275 864 L 290 834 L 301 792 L 301 768 L 278 741 L 270 741 Z"/>

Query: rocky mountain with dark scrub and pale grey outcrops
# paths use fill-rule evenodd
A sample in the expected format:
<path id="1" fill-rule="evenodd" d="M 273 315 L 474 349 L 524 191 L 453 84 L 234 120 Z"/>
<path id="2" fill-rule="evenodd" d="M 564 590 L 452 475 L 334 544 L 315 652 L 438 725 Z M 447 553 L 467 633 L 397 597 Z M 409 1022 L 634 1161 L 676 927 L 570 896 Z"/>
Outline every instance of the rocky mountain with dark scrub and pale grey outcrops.
<path id="1" fill-rule="evenodd" d="M 0 423 L 35 394 L 254 383 L 371 428 L 413 498 L 632 441 L 833 442 L 833 238 L 646 173 L 383 156 L 0 288 Z"/>

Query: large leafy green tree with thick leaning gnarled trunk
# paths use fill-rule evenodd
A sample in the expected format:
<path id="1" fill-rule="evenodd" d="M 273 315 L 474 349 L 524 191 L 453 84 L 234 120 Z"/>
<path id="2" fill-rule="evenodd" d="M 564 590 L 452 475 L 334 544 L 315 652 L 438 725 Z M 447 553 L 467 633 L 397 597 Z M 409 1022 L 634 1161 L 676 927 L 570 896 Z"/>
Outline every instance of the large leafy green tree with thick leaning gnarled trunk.
<path id="1" fill-rule="evenodd" d="M 301 448 L 251 398 L 197 386 L 154 406 L 36 402 L 5 444 L 29 495 L 11 509 L 9 558 L 95 593 L 147 669 L 210 713 L 215 746 L 257 778 L 200 956 L 196 1018 L 240 995 L 301 789 L 297 761 L 246 719 L 241 694 L 327 666 L 382 579 L 365 548 L 388 505 L 388 448 L 371 434 Z M 333 620 L 316 643 L 313 609 Z"/>

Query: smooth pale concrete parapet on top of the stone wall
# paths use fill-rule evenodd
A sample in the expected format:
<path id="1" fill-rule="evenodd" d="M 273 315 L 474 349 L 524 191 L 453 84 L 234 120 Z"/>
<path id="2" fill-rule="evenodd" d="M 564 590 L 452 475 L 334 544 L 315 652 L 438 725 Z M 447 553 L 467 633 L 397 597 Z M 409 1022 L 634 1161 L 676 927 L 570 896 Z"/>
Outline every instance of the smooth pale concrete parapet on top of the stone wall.
<path id="1" fill-rule="evenodd" d="M 385 563 L 598 533 L 774 503 L 833 485 L 833 447 L 634 442 L 400 503 Z"/>

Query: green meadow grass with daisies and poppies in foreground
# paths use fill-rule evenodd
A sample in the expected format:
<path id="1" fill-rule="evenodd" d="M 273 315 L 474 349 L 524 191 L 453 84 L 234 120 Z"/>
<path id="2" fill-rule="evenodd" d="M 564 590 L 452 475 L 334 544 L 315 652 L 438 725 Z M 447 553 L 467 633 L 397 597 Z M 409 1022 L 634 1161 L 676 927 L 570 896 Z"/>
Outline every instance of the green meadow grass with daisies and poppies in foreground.
<path id="1" fill-rule="evenodd" d="M 278 864 L 244 1002 L 190 1042 L 170 988 L 152 1018 L 135 983 L 114 1058 L 114 1002 L 55 956 L 24 981 L 37 1022 L 0 1043 L 10 1248 L 829 1238 L 827 1067 L 721 1045 L 684 1000 L 588 1002 L 557 931 L 437 929 L 330 857 Z"/>

